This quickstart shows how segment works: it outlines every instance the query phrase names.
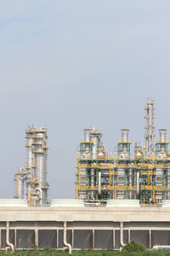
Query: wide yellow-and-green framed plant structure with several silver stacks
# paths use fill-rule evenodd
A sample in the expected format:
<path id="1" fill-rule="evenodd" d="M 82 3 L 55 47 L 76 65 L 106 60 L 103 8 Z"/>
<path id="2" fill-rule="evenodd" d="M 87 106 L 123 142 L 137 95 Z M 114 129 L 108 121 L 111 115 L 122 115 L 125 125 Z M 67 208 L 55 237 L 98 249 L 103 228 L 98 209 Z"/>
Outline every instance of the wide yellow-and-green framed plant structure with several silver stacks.
<path id="1" fill-rule="evenodd" d="M 145 109 L 145 145 L 134 144 L 133 156 L 128 129 L 122 129 L 116 157 L 109 157 L 101 143 L 102 131 L 84 129 L 77 157 L 76 198 L 86 203 L 105 204 L 108 199 L 138 199 L 141 204 L 159 205 L 170 200 L 170 153 L 167 130 L 159 130 L 154 143 L 154 102 Z"/>

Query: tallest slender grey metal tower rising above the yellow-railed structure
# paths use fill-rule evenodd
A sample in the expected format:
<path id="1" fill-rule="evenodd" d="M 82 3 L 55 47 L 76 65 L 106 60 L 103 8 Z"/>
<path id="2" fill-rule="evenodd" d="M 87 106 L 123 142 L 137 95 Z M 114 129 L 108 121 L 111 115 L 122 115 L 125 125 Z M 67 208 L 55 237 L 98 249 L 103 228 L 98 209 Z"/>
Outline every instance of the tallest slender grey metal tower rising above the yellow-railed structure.
<path id="1" fill-rule="evenodd" d="M 145 138 L 145 147 L 146 147 L 146 156 L 150 156 L 151 151 L 154 148 L 154 137 L 155 135 L 155 125 L 154 125 L 154 101 L 147 101 L 146 105 L 144 106 L 145 110 L 145 115 L 144 119 L 146 120 L 145 122 L 145 133 L 144 133 L 144 138 Z"/>

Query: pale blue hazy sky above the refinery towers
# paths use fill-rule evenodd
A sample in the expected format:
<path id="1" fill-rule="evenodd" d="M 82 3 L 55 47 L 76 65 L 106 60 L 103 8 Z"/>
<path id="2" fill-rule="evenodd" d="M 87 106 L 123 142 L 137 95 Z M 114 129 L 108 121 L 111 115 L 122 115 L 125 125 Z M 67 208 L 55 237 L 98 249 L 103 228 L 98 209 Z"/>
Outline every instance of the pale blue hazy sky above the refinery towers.
<path id="1" fill-rule="evenodd" d="M 0 198 L 13 198 L 27 125 L 48 127 L 49 198 L 75 198 L 88 126 L 111 155 L 122 128 L 144 143 L 150 98 L 169 139 L 169 27 L 169 0 L 0 0 Z"/>

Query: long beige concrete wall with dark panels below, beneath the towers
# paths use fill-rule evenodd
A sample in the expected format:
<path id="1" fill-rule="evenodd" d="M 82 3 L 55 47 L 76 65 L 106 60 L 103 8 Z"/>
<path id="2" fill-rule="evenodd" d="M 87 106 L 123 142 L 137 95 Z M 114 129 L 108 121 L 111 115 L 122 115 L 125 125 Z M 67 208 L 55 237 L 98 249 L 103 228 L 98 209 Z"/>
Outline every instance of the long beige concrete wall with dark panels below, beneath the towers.
<path id="1" fill-rule="evenodd" d="M 110 208 L 0 208 L 0 248 L 9 241 L 16 248 L 32 244 L 62 249 L 64 221 L 66 241 L 75 249 L 119 249 L 123 223 L 123 243 L 132 239 L 145 247 L 170 245 L 170 209 L 161 207 Z"/>

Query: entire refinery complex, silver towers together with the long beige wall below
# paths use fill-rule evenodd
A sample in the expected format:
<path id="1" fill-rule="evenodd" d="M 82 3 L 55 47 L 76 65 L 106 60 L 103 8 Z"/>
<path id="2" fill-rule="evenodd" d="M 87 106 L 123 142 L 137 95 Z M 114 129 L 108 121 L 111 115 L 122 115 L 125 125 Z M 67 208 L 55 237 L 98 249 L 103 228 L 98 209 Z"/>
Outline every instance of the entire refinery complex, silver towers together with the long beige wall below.
<path id="1" fill-rule="evenodd" d="M 122 129 L 111 155 L 101 130 L 84 129 L 76 199 L 48 198 L 48 130 L 29 126 L 26 164 L 14 173 L 14 199 L 0 200 L 0 249 L 34 244 L 69 253 L 119 250 L 132 239 L 148 248 L 170 246 L 170 151 L 166 129 L 155 142 L 154 112 L 148 100 L 144 145 L 131 142 Z"/>

